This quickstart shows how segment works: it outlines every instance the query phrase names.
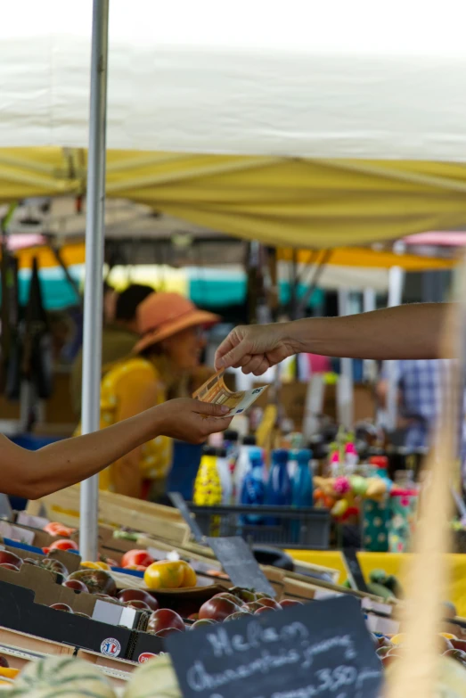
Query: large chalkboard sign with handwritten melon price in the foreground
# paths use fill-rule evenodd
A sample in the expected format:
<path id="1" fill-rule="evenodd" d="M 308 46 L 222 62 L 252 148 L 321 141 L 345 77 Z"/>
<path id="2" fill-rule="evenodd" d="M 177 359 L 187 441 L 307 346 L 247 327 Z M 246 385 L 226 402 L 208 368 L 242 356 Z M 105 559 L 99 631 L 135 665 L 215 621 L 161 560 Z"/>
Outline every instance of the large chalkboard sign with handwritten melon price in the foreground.
<path id="1" fill-rule="evenodd" d="M 381 664 L 351 596 L 168 636 L 184 698 L 377 698 Z"/>

